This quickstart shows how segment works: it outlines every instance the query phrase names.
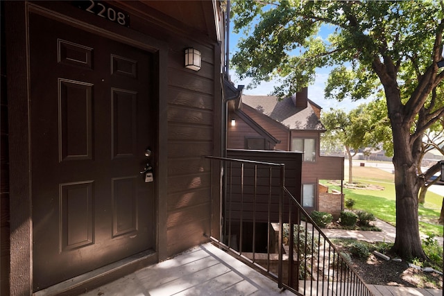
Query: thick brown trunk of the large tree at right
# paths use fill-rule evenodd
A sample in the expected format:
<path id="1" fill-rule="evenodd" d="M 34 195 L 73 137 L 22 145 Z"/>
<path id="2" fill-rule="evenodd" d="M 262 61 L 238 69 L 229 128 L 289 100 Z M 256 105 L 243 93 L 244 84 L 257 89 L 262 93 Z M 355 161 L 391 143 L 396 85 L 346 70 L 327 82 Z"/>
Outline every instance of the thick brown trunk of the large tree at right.
<path id="1" fill-rule="evenodd" d="M 415 141 L 413 145 L 409 143 L 409 126 L 406 126 L 408 124 L 404 123 L 402 116 L 398 115 L 391 116 L 396 191 L 396 238 L 393 251 L 404 259 L 426 259 L 419 235 L 420 182 L 416 175 L 418 154 L 415 150 L 418 149 L 418 141 Z"/>

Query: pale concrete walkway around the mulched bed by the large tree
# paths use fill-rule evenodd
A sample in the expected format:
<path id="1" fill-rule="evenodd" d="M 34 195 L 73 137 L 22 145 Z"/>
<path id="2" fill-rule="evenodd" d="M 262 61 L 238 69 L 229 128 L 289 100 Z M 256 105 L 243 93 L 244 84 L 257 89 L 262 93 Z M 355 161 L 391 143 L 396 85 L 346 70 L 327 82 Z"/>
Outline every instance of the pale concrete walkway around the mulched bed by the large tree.
<path id="1" fill-rule="evenodd" d="M 375 225 L 382 229 L 382 232 L 364 232 L 359 230 L 344 230 L 344 229 L 322 229 L 328 238 L 355 238 L 359 241 L 377 242 L 382 241 L 386 243 L 394 243 L 396 236 L 396 229 L 392 225 L 382 221 L 376 220 Z M 443 237 L 435 237 L 439 245 L 443 245 Z M 368 285 L 375 296 L 441 296 L 443 290 L 429 289 L 429 288 L 410 288 L 399 286 L 380 286 Z"/>

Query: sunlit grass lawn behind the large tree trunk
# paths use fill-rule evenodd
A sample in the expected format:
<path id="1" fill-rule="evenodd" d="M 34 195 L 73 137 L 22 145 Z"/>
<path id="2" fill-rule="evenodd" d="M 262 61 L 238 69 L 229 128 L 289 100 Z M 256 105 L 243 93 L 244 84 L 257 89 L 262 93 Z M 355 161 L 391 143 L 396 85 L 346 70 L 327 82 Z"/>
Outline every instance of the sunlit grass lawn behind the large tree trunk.
<path id="1" fill-rule="evenodd" d="M 355 168 L 357 168 L 355 170 Z M 393 174 L 370 167 L 353 167 L 353 182 L 365 184 L 375 184 L 384 186 L 384 190 L 363 190 L 363 189 L 343 189 L 345 199 L 355 200 L 353 209 L 361 209 L 375 215 L 375 217 L 390 223 L 396 224 L 395 209 L 395 184 Z M 345 178 L 348 180 L 348 177 Z M 323 182 L 325 184 L 325 182 Z M 339 189 L 339 186 L 327 184 L 330 189 Z M 339 189 L 340 190 L 340 189 Z M 432 233 L 435 236 L 443 236 L 443 225 L 437 225 L 443 197 L 427 191 L 425 204 L 420 205 L 418 215 L 420 217 L 420 232 L 423 234 Z"/>

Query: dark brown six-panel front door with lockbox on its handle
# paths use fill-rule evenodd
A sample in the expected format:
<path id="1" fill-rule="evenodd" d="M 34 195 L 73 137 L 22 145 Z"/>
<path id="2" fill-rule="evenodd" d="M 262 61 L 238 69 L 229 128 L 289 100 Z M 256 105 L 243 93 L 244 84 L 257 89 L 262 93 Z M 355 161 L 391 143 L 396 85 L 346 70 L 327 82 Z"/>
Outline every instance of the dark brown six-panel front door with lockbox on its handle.
<path id="1" fill-rule="evenodd" d="M 153 55 L 30 15 L 33 289 L 153 249 Z M 155 153 L 155 151 L 153 151 Z"/>

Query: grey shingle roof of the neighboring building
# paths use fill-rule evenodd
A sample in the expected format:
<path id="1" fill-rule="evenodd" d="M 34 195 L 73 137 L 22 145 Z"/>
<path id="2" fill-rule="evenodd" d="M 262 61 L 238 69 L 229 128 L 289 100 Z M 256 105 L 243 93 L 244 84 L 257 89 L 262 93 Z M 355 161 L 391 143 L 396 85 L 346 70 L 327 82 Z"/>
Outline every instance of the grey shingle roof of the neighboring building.
<path id="1" fill-rule="evenodd" d="M 244 94 L 242 103 L 287 126 L 290 130 L 325 130 L 310 102 L 306 108 L 296 108 L 291 97 L 278 101 L 276 96 Z"/>

